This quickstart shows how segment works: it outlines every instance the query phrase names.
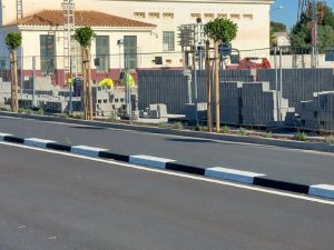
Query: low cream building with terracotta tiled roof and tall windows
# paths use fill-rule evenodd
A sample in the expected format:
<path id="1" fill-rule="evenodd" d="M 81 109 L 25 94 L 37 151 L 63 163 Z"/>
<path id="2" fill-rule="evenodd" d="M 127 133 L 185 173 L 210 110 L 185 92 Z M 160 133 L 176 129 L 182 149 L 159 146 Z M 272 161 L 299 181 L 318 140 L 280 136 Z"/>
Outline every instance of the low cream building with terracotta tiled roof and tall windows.
<path id="1" fill-rule="evenodd" d="M 137 68 L 137 52 L 149 52 L 153 48 L 156 24 L 127 19 L 94 10 L 76 10 L 73 12 L 76 28 L 91 27 L 96 38 L 91 44 L 91 67 L 94 73 L 108 74 L 119 72 L 127 63 Z M 0 28 L 0 40 L 4 43 L 8 32 L 22 34 L 22 47 L 18 51 L 23 56 L 23 67 L 31 71 L 32 59 L 36 60 L 36 71 L 40 76 L 57 76 L 56 83 L 63 82 L 66 69 L 81 73 L 81 49 L 71 44 L 72 63 L 68 66 L 66 52 L 66 20 L 62 10 L 41 10 L 22 19 L 11 21 Z M 6 46 L 0 48 L 0 58 L 7 58 Z M 125 58 L 121 54 L 129 54 Z M 29 73 L 31 74 L 31 72 Z"/>

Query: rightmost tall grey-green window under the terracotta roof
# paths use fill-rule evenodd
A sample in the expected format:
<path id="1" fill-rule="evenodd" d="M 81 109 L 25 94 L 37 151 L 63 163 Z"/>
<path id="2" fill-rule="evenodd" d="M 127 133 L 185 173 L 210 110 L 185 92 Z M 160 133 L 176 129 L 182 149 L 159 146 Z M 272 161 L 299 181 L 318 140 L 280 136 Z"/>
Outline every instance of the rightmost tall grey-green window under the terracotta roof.
<path id="1" fill-rule="evenodd" d="M 126 69 L 137 68 L 137 36 L 124 37 L 124 57 Z"/>

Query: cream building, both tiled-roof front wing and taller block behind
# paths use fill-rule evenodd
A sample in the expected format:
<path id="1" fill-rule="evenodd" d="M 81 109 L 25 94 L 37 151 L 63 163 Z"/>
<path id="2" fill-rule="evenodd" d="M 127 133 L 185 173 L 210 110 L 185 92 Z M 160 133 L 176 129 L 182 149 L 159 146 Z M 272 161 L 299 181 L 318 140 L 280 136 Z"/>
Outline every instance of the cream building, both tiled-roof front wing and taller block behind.
<path id="1" fill-rule="evenodd" d="M 61 10 L 63 1 L 21 0 L 22 11 L 18 11 L 16 0 L 0 0 L 0 41 L 4 40 L 8 32 L 20 31 L 23 44 L 19 56 L 40 57 L 37 68 L 41 72 L 60 70 L 63 66 L 59 58 L 66 54 L 62 31 L 65 19 Z M 164 67 L 183 67 L 183 59 L 177 54 L 181 50 L 178 27 L 195 23 L 198 18 L 203 23 L 215 18 L 236 22 L 238 32 L 232 42 L 235 49 L 269 47 L 269 9 L 274 0 L 71 1 L 77 10 L 76 27 L 91 26 L 97 34 L 91 52 L 104 54 L 98 58 L 99 66 L 96 67 L 101 72 L 116 69 L 119 72 L 119 68 L 125 67 L 125 58 L 115 54 L 140 53 L 140 57 L 134 56 L 128 60 L 130 68 L 154 67 L 155 62 L 161 62 Z M 161 52 L 164 56 L 156 58 L 153 52 Z M 1 56 L 8 57 L 8 50 L 0 42 Z M 48 60 L 50 57 L 57 58 L 56 61 Z M 24 62 L 24 67 L 31 68 L 31 60 Z M 76 68 L 79 70 L 80 67 Z"/>

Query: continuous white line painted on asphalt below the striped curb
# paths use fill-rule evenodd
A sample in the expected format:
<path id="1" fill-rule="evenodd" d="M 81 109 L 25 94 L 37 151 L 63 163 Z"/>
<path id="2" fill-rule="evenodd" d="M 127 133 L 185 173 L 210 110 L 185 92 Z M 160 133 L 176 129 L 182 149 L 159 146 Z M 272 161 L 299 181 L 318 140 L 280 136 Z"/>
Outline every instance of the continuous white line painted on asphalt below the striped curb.
<path id="1" fill-rule="evenodd" d="M 136 166 L 136 164 L 130 164 L 130 163 L 125 163 L 125 162 L 119 162 L 119 161 L 105 160 L 105 159 L 100 159 L 100 158 L 91 158 L 91 157 L 87 157 L 87 156 L 79 156 L 79 154 L 73 154 L 73 153 L 65 152 L 65 151 L 55 151 L 55 150 L 50 150 L 50 149 L 32 148 L 32 147 L 24 146 L 24 144 L 16 144 L 16 143 L 9 143 L 9 142 L 0 142 L 0 144 L 16 147 L 16 148 L 22 148 L 22 149 L 28 149 L 28 150 L 33 150 L 33 151 L 53 153 L 53 154 L 59 154 L 59 156 L 66 156 L 66 157 L 71 157 L 71 158 L 78 158 L 78 159 L 84 159 L 84 160 L 90 160 L 90 161 L 95 161 L 95 162 L 101 162 L 101 163 L 106 163 L 106 164 L 111 164 L 114 168 L 115 168 L 115 166 L 128 167 L 128 168 L 136 169 L 136 170 L 156 172 L 156 173 L 160 173 L 160 174 L 165 174 L 165 176 L 186 178 L 186 179 L 191 179 L 191 180 L 197 180 L 197 181 L 204 181 L 207 183 L 239 188 L 239 189 L 250 190 L 250 191 L 255 191 L 255 192 L 275 194 L 275 196 L 279 196 L 279 197 L 287 197 L 287 198 L 293 198 L 293 199 L 297 199 L 297 200 L 304 200 L 304 201 L 310 201 L 310 202 L 334 206 L 334 201 L 324 200 L 324 199 L 316 198 L 316 197 L 301 196 L 301 194 L 296 194 L 296 193 L 289 193 L 289 192 L 284 192 L 284 191 L 279 191 L 279 190 L 271 190 L 271 189 L 265 189 L 265 188 L 261 188 L 261 187 L 247 186 L 247 184 L 243 184 L 243 183 L 227 182 L 227 181 L 217 180 L 217 179 L 208 179 L 206 177 L 193 176 L 193 174 L 187 174 L 187 173 L 181 173 L 181 172 L 171 172 L 171 171 L 166 171 L 165 169 L 147 168 L 144 166 Z"/>

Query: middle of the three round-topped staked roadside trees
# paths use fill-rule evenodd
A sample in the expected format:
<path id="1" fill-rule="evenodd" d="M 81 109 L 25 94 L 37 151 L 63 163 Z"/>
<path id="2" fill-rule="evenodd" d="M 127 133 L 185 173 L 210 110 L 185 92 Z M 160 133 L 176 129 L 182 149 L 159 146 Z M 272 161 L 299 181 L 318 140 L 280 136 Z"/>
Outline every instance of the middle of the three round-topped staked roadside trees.
<path id="1" fill-rule="evenodd" d="M 92 92 L 91 92 L 91 70 L 90 70 L 90 46 L 96 37 L 90 27 L 76 29 L 75 39 L 79 42 L 82 49 L 82 109 L 85 120 L 92 120 Z"/>

